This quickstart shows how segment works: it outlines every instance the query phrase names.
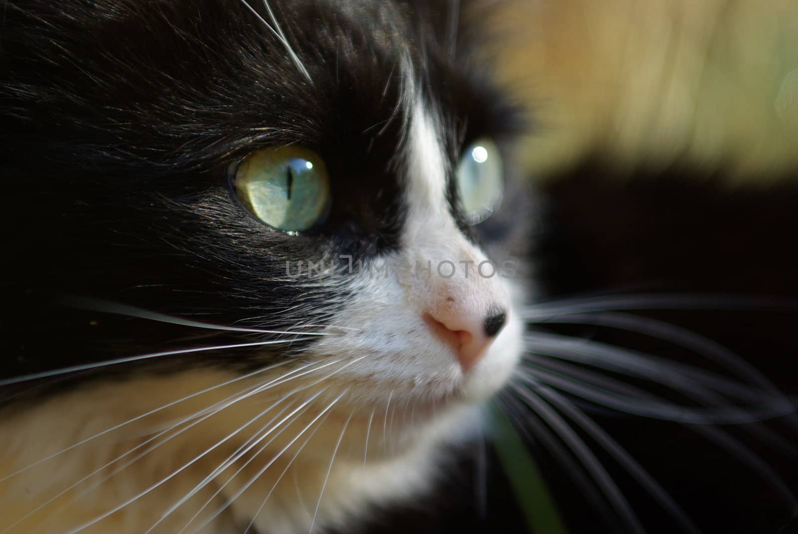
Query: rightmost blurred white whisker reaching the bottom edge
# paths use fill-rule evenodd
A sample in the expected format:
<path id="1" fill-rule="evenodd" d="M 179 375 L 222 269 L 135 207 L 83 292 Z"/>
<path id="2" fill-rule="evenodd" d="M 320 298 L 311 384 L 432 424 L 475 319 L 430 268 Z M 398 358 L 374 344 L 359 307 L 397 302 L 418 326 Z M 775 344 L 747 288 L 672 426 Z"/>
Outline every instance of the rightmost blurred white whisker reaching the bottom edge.
<path id="1" fill-rule="evenodd" d="M 571 405 L 565 398 L 556 394 L 555 391 L 549 389 L 547 386 L 539 385 L 535 388 L 535 391 L 543 398 L 546 398 L 551 405 L 558 408 L 562 413 L 565 413 L 571 421 L 579 425 L 588 435 L 595 439 L 607 453 L 610 453 L 623 469 L 626 469 L 626 471 L 630 473 L 654 499 L 663 504 L 670 514 L 679 521 L 681 528 L 684 529 L 682 532 L 694 532 L 695 534 L 700 532 L 696 524 L 693 523 L 693 520 L 690 520 L 689 516 L 676 503 L 673 497 L 662 488 L 662 485 L 659 485 L 659 483 L 654 480 L 654 477 L 651 477 L 638 461 L 634 460 L 621 445 L 618 445 L 617 441 L 604 432 L 599 425 L 596 425 L 595 421 L 587 417 L 574 405 Z"/>

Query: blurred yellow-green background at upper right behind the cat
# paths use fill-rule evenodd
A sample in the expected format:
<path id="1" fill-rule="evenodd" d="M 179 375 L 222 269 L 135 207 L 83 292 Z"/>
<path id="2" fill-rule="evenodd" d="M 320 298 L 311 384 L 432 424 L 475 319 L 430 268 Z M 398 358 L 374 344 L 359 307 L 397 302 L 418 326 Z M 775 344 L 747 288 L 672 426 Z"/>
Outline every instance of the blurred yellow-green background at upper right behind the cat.
<path id="1" fill-rule="evenodd" d="M 523 162 L 535 176 L 587 152 L 721 165 L 729 183 L 767 184 L 798 165 L 798 3 L 493 4 L 488 53 L 534 111 Z"/>

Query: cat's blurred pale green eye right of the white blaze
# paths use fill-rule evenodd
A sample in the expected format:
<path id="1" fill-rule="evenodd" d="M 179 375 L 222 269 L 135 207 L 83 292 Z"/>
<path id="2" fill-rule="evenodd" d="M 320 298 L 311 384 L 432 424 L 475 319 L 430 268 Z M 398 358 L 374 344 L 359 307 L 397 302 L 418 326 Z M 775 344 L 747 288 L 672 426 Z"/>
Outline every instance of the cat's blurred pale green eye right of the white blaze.
<path id="1" fill-rule="evenodd" d="M 457 164 L 456 180 L 468 223 L 488 219 L 504 193 L 504 165 L 496 143 L 481 137 L 469 145 Z"/>

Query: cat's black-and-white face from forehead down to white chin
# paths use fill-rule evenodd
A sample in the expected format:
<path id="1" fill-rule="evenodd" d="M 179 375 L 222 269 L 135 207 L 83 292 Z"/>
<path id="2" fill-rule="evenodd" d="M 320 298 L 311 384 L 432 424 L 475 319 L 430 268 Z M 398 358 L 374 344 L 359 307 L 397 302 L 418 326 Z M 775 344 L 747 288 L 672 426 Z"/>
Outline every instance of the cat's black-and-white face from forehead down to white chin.
<path id="1" fill-rule="evenodd" d="M 197 359 L 360 358 L 346 374 L 378 398 L 388 384 L 482 398 L 504 381 L 518 351 L 515 269 L 506 251 L 488 263 L 463 191 L 480 148 L 499 166 L 472 172 L 489 182 L 476 202 L 500 209 L 504 108 L 433 26 L 439 8 L 275 4 L 285 43 L 263 6 L 242 2 L 73 8 L 13 3 L 6 24 L 3 91 L 21 109 L 6 132 L 22 137 L 6 139 L 6 167 L 22 194 L 38 191 L 18 214 L 30 233 L 11 238 L 25 291 L 307 333 L 240 361 Z M 278 153 L 268 170 L 259 154 L 281 147 L 306 158 Z M 290 209 L 310 209 L 298 231 L 235 186 L 283 180 L 293 160 L 316 160 L 326 181 L 305 186 L 318 206 L 294 196 Z M 86 361 L 65 351 L 23 359 Z"/>

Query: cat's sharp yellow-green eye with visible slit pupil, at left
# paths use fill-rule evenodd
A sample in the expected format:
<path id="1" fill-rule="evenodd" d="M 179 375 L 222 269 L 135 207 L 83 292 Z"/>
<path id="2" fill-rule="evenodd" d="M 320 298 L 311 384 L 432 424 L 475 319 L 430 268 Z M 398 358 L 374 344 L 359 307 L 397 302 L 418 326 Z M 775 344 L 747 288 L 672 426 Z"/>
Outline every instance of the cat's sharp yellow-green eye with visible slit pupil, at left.
<path id="1" fill-rule="evenodd" d="M 231 179 L 252 215 L 278 230 L 305 231 L 322 222 L 330 205 L 330 178 L 321 156 L 294 146 L 252 152 Z"/>

